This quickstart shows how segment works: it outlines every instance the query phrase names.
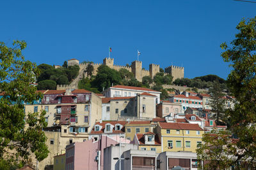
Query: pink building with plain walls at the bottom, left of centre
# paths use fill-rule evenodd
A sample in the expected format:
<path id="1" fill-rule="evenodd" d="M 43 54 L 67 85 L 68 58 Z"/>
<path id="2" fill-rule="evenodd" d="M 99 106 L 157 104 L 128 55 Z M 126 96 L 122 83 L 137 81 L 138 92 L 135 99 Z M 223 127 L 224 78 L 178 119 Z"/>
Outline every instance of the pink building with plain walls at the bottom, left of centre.
<path id="1" fill-rule="evenodd" d="M 95 170 L 103 169 L 104 148 L 119 143 L 129 143 L 129 140 L 119 138 L 118 135 L 108 137 L 104 134 L 95 141 L 90 139 L 81 143 L 72 143 L 66 146 L 66 170 Z"/>

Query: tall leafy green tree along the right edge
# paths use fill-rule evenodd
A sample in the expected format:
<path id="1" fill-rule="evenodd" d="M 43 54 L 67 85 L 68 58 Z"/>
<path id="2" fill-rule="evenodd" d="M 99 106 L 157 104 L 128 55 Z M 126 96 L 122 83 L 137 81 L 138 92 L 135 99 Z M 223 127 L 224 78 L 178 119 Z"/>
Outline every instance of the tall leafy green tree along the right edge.
<path id="1" fill-rule="evenodd" d="M 236 39 L 230 46 L 227 43 L 221 44 L 225 52 L 221 57 L 232 67 L 228 75 L 227 85 L 235 97 L 234 108 L 226 110 L 228 130 L 232 137 L 236 137 L 233 142 L 233 152 L 226 152 L 228 161 L 236 169 L 255 169 L 256 159 L 256 17 L 242 20 L 237 25 Z M 209 141 L 205 141 L 207 145 Z M 223 143 L 220 146 L 228 147 Z M 225 148 L 222 147 L 222 148 Z M 217 153 L 218 150 L 212 149 Z M 203 158 L 205 160 L 205 158 Z M 214 159 L 208 159 L 211 164 Z M 219 159 L 221 161 L 221 159 Z M 225 164 L 227 160 L 222 160 Z M 246 164 L 241 164 L 245 162 Z"/>

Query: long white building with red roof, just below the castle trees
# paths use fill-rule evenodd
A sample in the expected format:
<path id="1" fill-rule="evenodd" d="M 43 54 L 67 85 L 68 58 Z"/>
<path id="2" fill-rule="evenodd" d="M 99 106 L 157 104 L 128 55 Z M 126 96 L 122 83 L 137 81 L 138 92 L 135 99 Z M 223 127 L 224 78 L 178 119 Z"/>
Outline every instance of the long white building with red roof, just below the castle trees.
<path id="1" fill-rule="evenodd" d="M 105 97 L 132 97 L 137 96 L 137 94 L 142 94 L 147 92 L 154 96 L 157 96 L 156 104 L 160 103 L 160 94 L 156 90 L 148 89 L 145 87 L 132 87 L 126 85 L 115 85 L 113 87 L 109 87 L 108 89 L 104 90 L 103 95 Z"/>

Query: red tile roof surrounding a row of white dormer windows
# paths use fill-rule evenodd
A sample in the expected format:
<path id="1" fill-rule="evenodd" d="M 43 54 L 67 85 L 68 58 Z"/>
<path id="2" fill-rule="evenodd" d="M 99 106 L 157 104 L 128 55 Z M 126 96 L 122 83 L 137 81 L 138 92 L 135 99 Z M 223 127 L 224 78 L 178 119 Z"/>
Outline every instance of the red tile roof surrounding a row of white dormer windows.
<path id="1" fill-rule="evenodd" d="M 95 131 L 95 125 L 94 125 L 92 131 L 90 132 L 90 134 L 103 134 L 103 133 L 104 133 L 104 130 L 105 130 L 105 125 L 106 125 L 106 124 L 111 124 L 111 125 L 114 126 L 114 127 L 113 127 L 113 131 L 112 131 L 113 134 L 124 133 L 124 132 L 125 132 L 125 124 L 126 124 L 126 123 L 127 123 L 126 121 L 104 121 L 104 122 L 102 122 L 102 123 L 96 122 L 95 125 L 100 125 L 100 126 L 102 126 L 102 128 L 100 129 L 100 131 Z M 121 131 L 115 130 L 115 125 L 116 125 L 116 124 L 121 124 L 121 125 L 123 125 Z"/>

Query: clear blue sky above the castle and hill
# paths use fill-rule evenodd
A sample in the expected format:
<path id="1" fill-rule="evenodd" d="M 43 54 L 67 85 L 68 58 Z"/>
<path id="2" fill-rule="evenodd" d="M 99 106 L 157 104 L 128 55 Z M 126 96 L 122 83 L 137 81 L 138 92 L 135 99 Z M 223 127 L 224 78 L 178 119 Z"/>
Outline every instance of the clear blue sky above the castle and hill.
<path id="1" fill-rule="evenodd" d="M 253 1 L 253 0 L 252 0 Z M 28 43 L 24 55 L 37 64 L 64 60 L 131 64 L 140 50 L 151 63 L 184 66 L 184 76 L 217 74 L 230 68 L 220 44 L 231 41 L 241 18 L 256 15 L 256 3 L 233 0 L 3 1 L 0 41 Z"/>

